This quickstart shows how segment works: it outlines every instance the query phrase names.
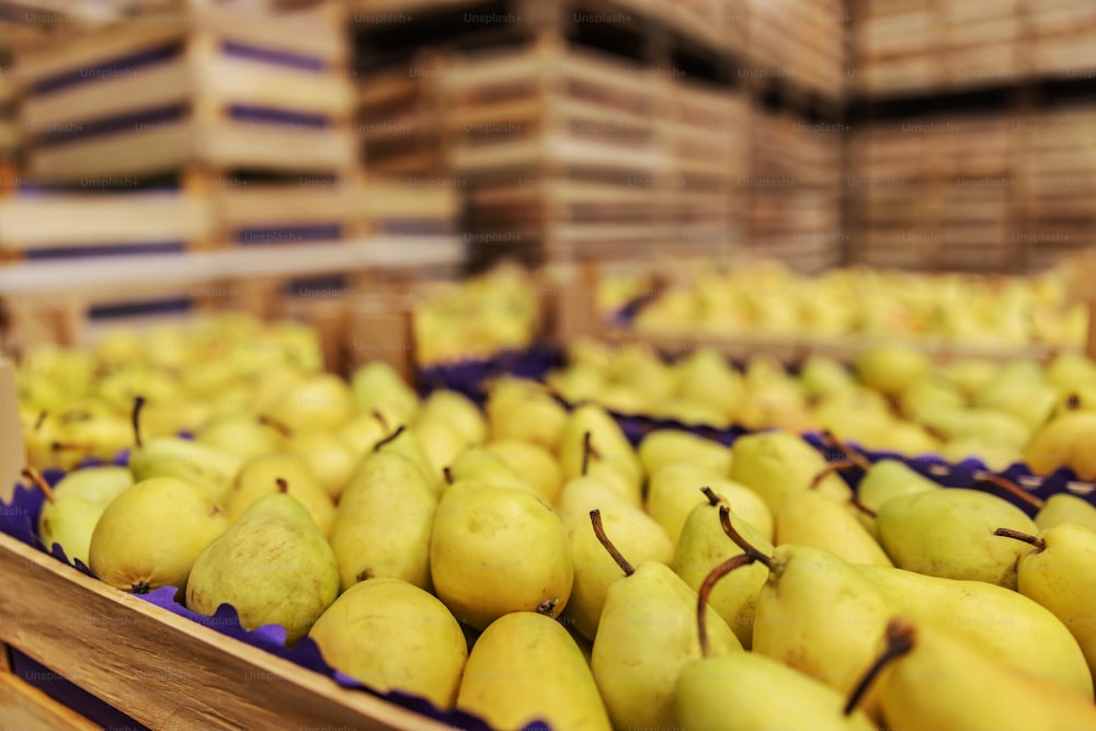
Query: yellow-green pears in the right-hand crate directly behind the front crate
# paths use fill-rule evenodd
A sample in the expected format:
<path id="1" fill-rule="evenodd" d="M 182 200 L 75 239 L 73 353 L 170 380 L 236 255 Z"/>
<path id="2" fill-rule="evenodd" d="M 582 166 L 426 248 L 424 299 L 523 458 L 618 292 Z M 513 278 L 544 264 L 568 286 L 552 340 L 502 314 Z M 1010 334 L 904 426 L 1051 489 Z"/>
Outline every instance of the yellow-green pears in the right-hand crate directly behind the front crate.
<path id="1" fill-rule="evenodd" d="M 1096 480 L 1096 362 L 1061 353 L 1034 361 L 961 359 L 876 346 L 852 367 L 811 355 L 795 373 L 767 356 L 740 370 L 710 349 L 667 362 L 650 345 L 572 344 L 547 382 L 572 403 L 621 414 L 747 431 L 827 431 L 865 449 L 975 458 L 1002 471 L 1069 467 Z"/>

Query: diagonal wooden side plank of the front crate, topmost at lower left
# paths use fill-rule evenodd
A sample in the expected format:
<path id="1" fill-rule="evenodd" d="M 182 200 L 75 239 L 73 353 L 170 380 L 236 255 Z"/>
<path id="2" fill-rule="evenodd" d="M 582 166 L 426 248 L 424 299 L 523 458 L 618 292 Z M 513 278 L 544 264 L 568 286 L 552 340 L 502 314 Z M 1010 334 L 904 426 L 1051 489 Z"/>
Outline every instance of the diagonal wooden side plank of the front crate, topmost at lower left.
<path id="1" fill-rule="evenodd" d="M 20 587 L 0 594 L 0 617 L 19 618 L 0 621 L 0 640 L 150 728 L 448 728 L 342 689 L 8 536 L 0 536 L 0 574 Z"/>

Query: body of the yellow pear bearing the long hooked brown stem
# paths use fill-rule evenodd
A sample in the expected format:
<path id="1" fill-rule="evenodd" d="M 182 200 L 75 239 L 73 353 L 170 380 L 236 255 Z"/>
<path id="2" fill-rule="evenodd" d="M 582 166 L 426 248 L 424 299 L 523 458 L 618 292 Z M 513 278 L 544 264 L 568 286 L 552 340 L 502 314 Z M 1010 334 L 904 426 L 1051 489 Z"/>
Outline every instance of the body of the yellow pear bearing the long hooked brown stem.
<path id="1" fill-rule="evenodd" d="M 777 546 L 757 594 L 753 651 L 847 694 L 891 613 L 875 584 L 830 551 Z"/>

